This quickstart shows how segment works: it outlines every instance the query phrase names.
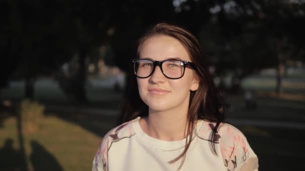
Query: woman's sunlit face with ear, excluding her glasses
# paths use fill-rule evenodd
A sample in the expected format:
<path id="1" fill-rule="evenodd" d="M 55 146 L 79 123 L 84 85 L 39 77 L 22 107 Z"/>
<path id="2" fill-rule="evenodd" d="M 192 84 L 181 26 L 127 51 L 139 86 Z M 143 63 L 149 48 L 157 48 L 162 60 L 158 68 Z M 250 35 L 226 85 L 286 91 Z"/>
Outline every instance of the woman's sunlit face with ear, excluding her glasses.
<path id="1" fill-rule="evenodd" d="M 183 44 L 167 35 L 156 35 L 146 39 L 139 47 L 140 58 L 165 60 L 178 58 L 191 61 Z M 184 76 L 179 79 L 167 78 L 156 66 L 152 75 L 137 78 L 141 99 L 150 110 L 165 111 L 179 107 L 189 107 L 190 90 L 197 90 L 199 82 L 193 69 L 186 67 Z"/>

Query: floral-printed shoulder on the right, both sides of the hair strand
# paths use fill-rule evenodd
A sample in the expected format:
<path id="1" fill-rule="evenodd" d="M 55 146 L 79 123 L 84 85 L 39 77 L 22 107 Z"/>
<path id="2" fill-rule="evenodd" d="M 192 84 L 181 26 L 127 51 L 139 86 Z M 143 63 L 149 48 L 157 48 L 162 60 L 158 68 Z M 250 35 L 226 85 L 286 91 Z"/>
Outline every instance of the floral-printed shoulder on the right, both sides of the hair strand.
<path id="1" fill-rule="evenodd" d="M 204 120 L 197 132 L 201 139 L 211 142 L 215 122 Z M 225 167 L 232 170 L 257 170 L 258 158 L 250 147 L 245 135 L 229 123 L 220 123 L 215 132 L 214 143 L 218 144 Z M 209 143 L 211 145 L 211 143 Z"/>

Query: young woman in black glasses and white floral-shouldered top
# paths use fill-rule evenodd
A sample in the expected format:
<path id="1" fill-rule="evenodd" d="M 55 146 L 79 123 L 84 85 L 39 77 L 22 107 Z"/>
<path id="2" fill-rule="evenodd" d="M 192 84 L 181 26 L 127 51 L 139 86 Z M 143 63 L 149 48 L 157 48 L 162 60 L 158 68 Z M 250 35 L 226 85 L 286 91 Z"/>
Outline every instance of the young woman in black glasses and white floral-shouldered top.
<path id="1" fill-rule="evenodd" d="M 131 63 L 122 124 L 103 137 L 92 170 L 258 170 L 246 137 L 224 123 L 193 34 L 159 23 L 139 39 Z"/>

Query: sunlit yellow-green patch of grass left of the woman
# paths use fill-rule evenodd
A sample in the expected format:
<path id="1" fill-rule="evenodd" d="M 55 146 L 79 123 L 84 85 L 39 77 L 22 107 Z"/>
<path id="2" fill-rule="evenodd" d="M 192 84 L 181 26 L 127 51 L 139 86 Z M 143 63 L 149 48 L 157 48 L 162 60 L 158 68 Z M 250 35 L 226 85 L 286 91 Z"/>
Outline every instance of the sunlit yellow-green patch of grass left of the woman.
<path id="1" fill-rule="evenodd" d="M 13 139 L 13 147 L 19 150 L 17 121 L 9 117 L 0 128 L 0 145 L 6 139 Z M 48 155 L 53 156 L 63 170 L 90 170 L 93 157 L 97 151 L 101 137 L 82 128 L 80 125 L 67 122 L 56 116 L 45 116 L 41 128 L 36 132 L 23 132 L 26 158 L 29 170 L 34 170 L 31 163 L 33 141 L 45 148 Z M 43 157 L 43 156 L 42 156 Z M 47 161 L 43 164 L 49 164 Z M 52 170 L 52 169 L 50 169 Z"/>

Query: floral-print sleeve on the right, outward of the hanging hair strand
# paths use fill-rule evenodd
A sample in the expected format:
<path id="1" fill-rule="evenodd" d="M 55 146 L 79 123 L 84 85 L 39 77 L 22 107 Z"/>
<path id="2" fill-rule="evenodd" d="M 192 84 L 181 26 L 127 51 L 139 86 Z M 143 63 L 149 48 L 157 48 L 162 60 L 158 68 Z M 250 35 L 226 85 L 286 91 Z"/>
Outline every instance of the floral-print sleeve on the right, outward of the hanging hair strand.
<path id="1" fill-rule="evenodd" d="M 220 150 L 228 171 L 258 170 L 258 158 L 240 130 L 225 123 L 220 126 L 219 132 Z"/>

